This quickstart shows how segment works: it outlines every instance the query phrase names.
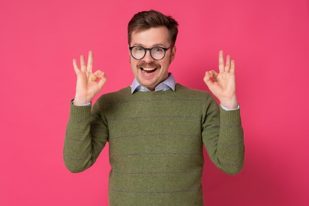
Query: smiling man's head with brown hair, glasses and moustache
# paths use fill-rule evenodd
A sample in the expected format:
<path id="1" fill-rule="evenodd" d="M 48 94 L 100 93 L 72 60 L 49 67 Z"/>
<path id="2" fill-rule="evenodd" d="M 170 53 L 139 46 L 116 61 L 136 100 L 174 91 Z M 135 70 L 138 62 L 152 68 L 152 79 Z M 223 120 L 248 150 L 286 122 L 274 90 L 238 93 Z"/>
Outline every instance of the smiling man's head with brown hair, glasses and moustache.
<path id="1" fill-rule="evenodd" d="M 177 26 L 171 16 L 154 10 L 139 12 L 129 22 L 128 44 L 133 74 L 151 91 L 168 77 L 168 67 L 176 53 Z"/>

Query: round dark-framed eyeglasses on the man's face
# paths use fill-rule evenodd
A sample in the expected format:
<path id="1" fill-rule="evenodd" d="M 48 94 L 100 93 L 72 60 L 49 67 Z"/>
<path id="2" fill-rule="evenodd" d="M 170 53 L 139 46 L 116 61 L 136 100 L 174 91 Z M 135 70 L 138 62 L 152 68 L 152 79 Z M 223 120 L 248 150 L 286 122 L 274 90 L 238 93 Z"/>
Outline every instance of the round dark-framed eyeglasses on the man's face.
<path id="1" fill-rule="evenodd" d="M 170 46 L 168 48 L 163 48 L 163 47 L 160 47 L 160 46 L 155 46 L 153 48 L 144 48 L 142 46 L 132 46 L 132 47 L 129 47 L 129 49 L 131 51 L 132 57 L 136 60 L 143 59 L 146 55 L 146 51 L 149 50 L 150 56 L 154 60 L 158 61 L 158 60 L 163 59 L 164 56 L 165 56 L 165 52 L 172 47 L 173 46 Z"/>

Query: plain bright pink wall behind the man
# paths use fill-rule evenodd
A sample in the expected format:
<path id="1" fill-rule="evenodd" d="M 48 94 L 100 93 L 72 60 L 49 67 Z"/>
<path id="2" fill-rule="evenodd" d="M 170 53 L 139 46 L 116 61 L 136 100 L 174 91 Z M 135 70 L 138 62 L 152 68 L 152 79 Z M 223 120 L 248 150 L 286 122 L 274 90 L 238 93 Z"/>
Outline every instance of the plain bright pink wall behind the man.
<path id="1" fill-rule="evenodd" d="M 108 205 L 108 147 L 85 172 L 62 160 L 72 59 L 93 50 L 100 94 L 130 85 L 126 27 L 149 9 L 180 24 L 177 82 L 207 90 L 219 50 L 236 62 L 245 165 L 230 176 L 206 156 L 205 205 L 309 205 L 308 0 L 1 0 L 0 205 Z"/>

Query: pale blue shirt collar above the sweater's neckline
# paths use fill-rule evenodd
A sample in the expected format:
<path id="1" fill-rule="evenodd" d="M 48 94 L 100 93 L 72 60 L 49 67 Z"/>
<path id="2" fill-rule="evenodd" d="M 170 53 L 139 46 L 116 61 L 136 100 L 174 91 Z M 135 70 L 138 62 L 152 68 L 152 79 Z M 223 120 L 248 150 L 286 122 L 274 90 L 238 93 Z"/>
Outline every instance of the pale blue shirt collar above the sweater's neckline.
<path id="1" fill-rule="evenodd" d="M 172 73 L 168 73 L 168 75 L 169 76 L 167 77 L 167 79 L 159 83 L 154 88 L 154 91 L 166 91 L 169 89 L 172 89 L 173 91 L 175 91 L 176 80 Z M 142 92 L 150 91 L 147 87 L 140 85 L 135 78 L 133 80 L 132 85 L 130 85 L 130 87 L 131 87 L 131 94 L 133 94 L 135 90 L 142 91 Z"/>

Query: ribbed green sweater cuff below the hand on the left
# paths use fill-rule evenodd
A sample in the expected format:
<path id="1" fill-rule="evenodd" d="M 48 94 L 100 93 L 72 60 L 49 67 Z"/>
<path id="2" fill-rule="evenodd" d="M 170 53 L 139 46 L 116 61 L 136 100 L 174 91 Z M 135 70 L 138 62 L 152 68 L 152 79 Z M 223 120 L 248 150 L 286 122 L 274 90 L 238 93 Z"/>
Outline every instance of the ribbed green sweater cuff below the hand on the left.
<path id="1" fill-rule="evenodd" d="M 69 121 L 72 122 L 85 122 L 90 119 L 91 105 L 77 106 L 70 103 L 70 117 Z"/>

